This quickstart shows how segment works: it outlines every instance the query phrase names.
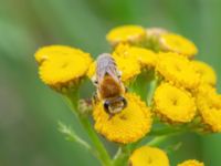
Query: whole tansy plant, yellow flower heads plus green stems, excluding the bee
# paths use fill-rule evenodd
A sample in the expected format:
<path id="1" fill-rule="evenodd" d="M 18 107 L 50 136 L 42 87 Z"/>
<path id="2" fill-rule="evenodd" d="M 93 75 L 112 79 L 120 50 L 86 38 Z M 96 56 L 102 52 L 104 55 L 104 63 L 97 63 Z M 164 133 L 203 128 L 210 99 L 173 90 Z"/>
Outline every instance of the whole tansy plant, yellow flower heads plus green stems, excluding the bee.
<path id="1" fill-rule="evenodd" d="M 120 73 L 117 77 L 126 89 L 122 95 L 127 103 L 112 117 L 105 110 L 105 98 L 95 100 L 92 93 L 87 98 L 81 97 L 81 86 L 96 82 L 96 59 L 65 45 L 44 46 L 35 53 L 40 79 L 67 98 L 92 145 L 64 125 L 62 132 L 92 151 L 101 164 L 169 166 L 166 149 L 152 144 L 159 135 L 221 132 L 217 74 L 209 64 L 193 60 L 198 53 L 193 42 L 168 30 L 140 25 L 115 28 L 106 39 Z M 95 89 L 94 93 L 98 93 L 98 86 Z M 109 156 L 98 135 L 115 143 L 118 147 L 115 156 Z M 148 138 L 152 141 L 145 142 Z M 203 166 L 203 163 L 190 159 L 178 166 Z"/>

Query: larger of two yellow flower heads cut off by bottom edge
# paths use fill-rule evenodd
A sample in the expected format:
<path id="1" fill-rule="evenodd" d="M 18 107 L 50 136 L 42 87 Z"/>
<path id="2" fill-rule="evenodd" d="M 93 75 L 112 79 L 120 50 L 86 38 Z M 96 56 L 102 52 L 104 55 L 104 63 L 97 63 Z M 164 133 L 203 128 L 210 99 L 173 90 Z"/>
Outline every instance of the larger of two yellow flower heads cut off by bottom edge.
<path id="1" fill-rule="evenodd" d="M 169 166 L 167 154 L 156 147 L 143 146 L 129 157 L 131 166 Z"/>

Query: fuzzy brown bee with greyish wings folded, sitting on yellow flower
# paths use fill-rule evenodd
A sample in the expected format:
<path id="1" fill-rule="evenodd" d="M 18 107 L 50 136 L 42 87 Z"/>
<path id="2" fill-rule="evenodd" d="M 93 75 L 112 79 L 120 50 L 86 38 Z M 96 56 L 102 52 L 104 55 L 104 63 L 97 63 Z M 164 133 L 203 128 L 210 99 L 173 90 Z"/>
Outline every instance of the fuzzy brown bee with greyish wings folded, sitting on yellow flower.
<path id="1" fill-rule="evenodd" d="M 109 114 L 109 117 L 126 107 L 127 101 L 124 97 L 126 89 L 110 54 L 104 53 L 97 58 L 94 83 L 97 87 L 96 98 L 103 101 L 104 110 Z"/>

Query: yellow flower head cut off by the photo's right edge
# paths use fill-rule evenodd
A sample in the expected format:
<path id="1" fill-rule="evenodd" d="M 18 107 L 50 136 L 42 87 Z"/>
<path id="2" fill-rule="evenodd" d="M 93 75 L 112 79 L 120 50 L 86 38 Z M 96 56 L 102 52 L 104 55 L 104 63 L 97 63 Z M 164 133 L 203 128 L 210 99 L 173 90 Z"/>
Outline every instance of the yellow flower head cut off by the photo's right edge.
<path id="1" fill-rule="evenodd" d="M 201 85 L 197 105 L 203 123 L 212 132 L 221 132 L 221 95 L 210 85 Z"/>

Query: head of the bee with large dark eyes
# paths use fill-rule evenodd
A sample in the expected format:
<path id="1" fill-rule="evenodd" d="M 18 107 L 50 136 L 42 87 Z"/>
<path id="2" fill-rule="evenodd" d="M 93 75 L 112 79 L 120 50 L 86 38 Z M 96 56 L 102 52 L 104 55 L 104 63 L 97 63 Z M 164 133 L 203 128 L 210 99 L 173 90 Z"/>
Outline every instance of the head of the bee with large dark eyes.
<path id="1" fill-rule="evenodd" d="M 127 101 L 123 96 L 117 96 L 114 98 L 107 98 L 104 101 L 104 110 L 107 114 L 114 115 L 127 106 Z"/>

